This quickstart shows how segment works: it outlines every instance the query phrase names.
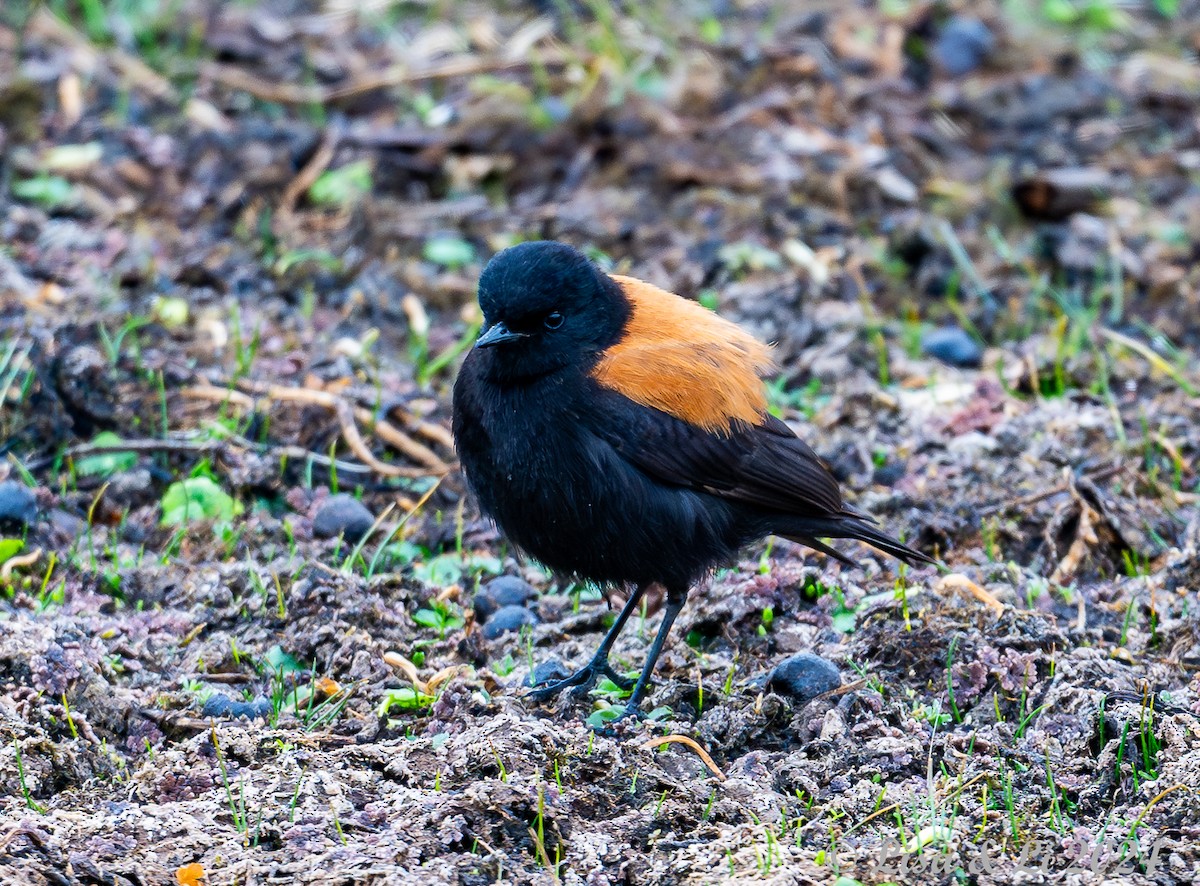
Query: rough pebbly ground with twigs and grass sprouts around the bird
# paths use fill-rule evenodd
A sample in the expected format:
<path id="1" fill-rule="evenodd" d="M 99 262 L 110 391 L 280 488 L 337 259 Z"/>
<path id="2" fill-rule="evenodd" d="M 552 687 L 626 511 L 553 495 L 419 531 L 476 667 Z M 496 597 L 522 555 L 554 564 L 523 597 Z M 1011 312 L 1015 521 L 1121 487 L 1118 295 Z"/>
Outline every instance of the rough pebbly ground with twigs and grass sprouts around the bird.
<path id="1" fill-rule="evenodd" d="M 1195 0 L 0 23 L 0 880 L 1200 878 Z M 648 720 L 524 698 L 612 618 L 455 469 L 529 238 L 775 342 L 946 573 L 764 540 Z"/>

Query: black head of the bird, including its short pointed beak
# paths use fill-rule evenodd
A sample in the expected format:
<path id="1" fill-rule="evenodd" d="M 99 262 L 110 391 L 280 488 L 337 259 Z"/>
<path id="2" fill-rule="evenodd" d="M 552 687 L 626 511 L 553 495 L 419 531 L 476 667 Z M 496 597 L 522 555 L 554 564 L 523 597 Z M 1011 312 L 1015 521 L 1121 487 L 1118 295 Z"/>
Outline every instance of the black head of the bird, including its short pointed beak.
<path id="1" fill-rule="evenodd" d="M 475 349 L 493 378 L 584 371 L 629 318 L 620 287 L 578 250 L 538 240 L 497 253 L 479 279 L 484 329 Z"/>

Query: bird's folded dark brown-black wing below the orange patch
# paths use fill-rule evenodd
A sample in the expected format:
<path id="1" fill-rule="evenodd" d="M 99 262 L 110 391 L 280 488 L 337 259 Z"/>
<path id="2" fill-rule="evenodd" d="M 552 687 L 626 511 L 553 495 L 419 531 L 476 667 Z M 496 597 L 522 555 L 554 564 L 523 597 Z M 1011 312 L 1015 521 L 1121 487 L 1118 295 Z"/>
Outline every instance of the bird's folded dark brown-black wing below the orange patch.
<path id="1" fill-rule="evenodd" d="M 856 513 L 816 453 L 770 415 L 719 433 L 604 388 L 590 402 L 592 432 L 660 483 L 797 516 Z"/>

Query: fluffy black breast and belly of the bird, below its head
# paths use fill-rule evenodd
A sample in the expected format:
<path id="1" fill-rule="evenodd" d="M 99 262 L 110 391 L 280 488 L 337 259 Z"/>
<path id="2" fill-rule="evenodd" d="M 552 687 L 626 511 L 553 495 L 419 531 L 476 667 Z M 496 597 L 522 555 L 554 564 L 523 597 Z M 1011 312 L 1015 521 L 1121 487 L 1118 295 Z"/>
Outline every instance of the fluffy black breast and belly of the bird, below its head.
<path id="1" fill-rule="evenodd" d="M 455 437 L 484 513 L 518 547 L 598 582 L 686 585 L 736 546 L 728 507 L 664 485 L 592 425 L 588 391 L 460 379 Z"/>

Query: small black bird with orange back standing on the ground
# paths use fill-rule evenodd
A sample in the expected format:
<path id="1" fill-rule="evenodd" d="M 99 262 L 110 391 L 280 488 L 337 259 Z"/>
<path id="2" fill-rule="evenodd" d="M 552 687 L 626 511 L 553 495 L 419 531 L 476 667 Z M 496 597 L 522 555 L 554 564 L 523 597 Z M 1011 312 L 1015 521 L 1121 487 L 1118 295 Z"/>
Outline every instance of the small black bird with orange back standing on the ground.
<path id="1" fill-rule="evenodd" d="M 534 700 L 608 677 L 641 702 L 690 591 L 768 535 L 858 565 L 857 539 L 912 565 L 928 555 L 847 504 L 816 453 L 768 412 L 770 348 L 696 301 L 607 274 L 552 240 L 497 252 L 482 325 L 454 384 L 458 461 L 481 513 L 526 555 L 628 598 L 595 654 Z M 647 591 L 666 591 L 638 678 L 608 657 Z"/>

